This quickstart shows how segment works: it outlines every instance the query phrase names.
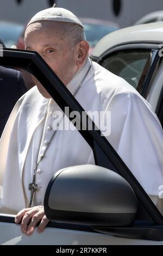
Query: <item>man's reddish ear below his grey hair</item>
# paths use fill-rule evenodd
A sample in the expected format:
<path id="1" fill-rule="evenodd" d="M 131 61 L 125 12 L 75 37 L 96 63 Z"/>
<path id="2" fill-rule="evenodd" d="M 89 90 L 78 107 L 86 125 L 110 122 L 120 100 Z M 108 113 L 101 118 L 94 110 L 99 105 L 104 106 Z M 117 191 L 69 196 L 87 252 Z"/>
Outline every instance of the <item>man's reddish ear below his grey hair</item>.
<path id="1" fill-rule="evenodd" d="M 86 57 L 89 54 L 89 43 L 87 41 L 80 41 L 78 42 L 77 47 L 77 66 L 80 68 L 85 62 Z"/>

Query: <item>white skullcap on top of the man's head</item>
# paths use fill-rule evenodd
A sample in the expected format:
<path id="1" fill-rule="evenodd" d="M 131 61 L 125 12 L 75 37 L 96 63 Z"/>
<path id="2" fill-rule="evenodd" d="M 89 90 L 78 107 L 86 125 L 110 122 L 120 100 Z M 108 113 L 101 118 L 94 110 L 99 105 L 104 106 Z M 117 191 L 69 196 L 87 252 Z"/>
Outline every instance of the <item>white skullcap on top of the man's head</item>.
<path id="1" fill-rule="evenodd" d="M 71 22 L 78 24 L 79 26 L 83 26 L 82 22 L 78 19 L 76 15 L 71 13 L 71 11 L 66 10 L 64 8 L 48 8 L 42 11 L 39 11 L 39 13 L 36 13 L 32 19 L 29 21 L 27 27 L 36 21 L 62 21 L 62 22 Z"/>

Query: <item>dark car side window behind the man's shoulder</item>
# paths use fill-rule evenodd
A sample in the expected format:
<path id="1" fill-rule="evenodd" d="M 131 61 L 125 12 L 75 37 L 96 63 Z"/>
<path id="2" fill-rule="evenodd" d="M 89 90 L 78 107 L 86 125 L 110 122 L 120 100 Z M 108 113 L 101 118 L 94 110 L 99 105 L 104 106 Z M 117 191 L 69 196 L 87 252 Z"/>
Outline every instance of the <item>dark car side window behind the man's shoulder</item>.
<path id="1" fill-rule="evenodd" d="M 151 51 L 121 51 L 109 55 L 102 66 L 117 76 L 124 78 L 140 91 L 151 64 Z"/>

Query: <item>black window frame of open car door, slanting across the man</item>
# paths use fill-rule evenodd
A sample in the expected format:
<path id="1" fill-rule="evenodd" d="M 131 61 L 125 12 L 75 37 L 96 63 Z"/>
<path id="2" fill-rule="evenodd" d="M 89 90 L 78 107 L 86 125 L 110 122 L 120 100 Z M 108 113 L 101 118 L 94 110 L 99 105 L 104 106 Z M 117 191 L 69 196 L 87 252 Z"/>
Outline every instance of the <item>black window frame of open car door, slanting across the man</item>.
<path id="1" fill-rule="evenodd" d="M 68 106 L 70 108 L 70 112 L 78 111 L 80 113 L 80 117 L 82 117 L 84 109 L 59 80 L 57 75 L 55 75 L 53 70 L 49 68 L 39 53 L 34 51 L 5 48 L 3 50 L 3 57 L 0 58 L 0 65 L 10 67 L 17 66 L 18 68 L 22 68 L 30 72 L 42 83 L 48 93 L 52 95 L 53 99 L 58 103 L 62 111 L 64 111 L 65 107 Z M 87 120 L 91 121 L 87 114 L 86 116 Z M 68 118 L 71 121 L 71 118 Z M 82 118 L 80 118 L 80 120 L 82 120 Z M 92 148 L 96 165 L 114 170 L 123 176 L 123 178 L 129 182 L 131 187 L 133 187 L 133 190 L 140 201 L 140 205 L 146 209 L 149 215 L 148 217 L 150 217 L 155 224 L 163 225 L 163 216 L 153 204 L 152 200 L 148 197 L 147 193 L 143 190 L 135 176 L 130 172 L 126 164 L 122 161 L 120 156 L 118 156 L 106 138 L 101 136 L 101 132 L 98 131 L 94 123 L 92 127 L 92 131 L 89 129 L 85 131 L 78 131 Z M 9 217 L 7 218 L 9 221 Z M 13 222 L 13 217 L 10 218 Z M 2 221 L 1 215 L 0 221 Z M 5 216 L 3 216 L 3 222 L 4 221 Z"/>

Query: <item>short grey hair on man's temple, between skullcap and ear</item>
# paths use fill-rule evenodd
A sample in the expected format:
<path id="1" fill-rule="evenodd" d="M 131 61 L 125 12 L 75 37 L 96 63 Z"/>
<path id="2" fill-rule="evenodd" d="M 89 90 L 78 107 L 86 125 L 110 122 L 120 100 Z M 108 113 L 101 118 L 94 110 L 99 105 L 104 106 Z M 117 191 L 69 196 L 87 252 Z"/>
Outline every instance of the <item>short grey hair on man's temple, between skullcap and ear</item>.
<path id="1" fill-rule="evenodd" d="M 70 38 L 73 45 L 85 40 L 84 28 L 82 26 L 71 22 L 62 22 L 62 29 L 64 30 L 64 35 Z"/>

